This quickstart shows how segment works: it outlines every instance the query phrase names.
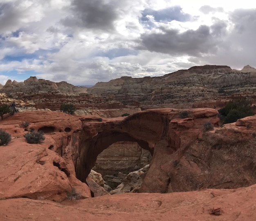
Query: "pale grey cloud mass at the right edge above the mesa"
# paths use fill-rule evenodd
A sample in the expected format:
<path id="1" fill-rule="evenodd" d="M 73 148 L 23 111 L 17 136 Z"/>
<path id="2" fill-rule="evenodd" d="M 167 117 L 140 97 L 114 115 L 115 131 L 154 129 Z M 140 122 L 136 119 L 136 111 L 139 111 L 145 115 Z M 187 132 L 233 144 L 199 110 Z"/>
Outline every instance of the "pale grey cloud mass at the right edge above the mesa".
<path id="1" fill-rule="evenodd" d="M 240 69 L 249 64 L 255 67 L 255 36 L 256 36 L 256 9 L 236 9 L 229 13 L 229 22 L 233 28 L 227 32 L 218 52 L 202 58 L 202 62 L 211 61 L 212 64 L 228 64 L 232 68 Z M 221 22 L 216 30 L 224 31 Z"/>

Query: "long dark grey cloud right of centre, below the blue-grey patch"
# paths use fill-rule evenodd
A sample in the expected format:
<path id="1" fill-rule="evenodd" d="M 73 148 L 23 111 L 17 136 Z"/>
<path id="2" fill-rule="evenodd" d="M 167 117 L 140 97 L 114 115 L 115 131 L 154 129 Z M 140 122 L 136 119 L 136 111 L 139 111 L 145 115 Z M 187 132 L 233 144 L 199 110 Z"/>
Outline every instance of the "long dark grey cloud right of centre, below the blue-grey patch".
<path id="1" fill-rule="evenodd" d="M 219 33 L 220 27 L 213 27 L 214 33 Z M 177 29 L 164 29 L 163 33 L 141 35 L 141 48 L 170 55 L 200 56 L 217 50 L 218 38 L 210 27 L 201 25 L 197 30 L 187 30 L 179 33 Z"/>

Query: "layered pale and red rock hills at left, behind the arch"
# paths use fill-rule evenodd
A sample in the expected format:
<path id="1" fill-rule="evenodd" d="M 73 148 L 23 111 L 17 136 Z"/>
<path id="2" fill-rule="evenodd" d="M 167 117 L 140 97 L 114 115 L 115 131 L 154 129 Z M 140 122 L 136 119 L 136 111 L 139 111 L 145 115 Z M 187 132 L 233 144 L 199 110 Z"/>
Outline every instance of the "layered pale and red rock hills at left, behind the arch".
<path id="1" fill-rule="evenodd" d="M 141 108 L 128 107 L 112 97 L 89 94 L 87 88 L 67 82 L 51 82 L 29 77 L 24 82 L 8 80 L 0 89 L 0 104 L 16 102 L 19 111 L 59 110 L 61 104 L 74 104 L 76 115 L 119 117 L 124 113 L 135 113 Z"/>

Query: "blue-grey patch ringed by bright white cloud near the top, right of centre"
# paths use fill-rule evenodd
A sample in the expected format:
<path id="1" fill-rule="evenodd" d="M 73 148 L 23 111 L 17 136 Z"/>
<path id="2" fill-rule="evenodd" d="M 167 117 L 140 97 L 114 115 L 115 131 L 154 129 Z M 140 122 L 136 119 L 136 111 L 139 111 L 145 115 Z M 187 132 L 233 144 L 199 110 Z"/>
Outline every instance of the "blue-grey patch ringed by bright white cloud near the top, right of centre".
<path id="1" fill-rule="evenodd" d="M 141 21 L 143 22 L 149 22 L 147 15 L 154 16 L 156 22 L 171 22 L 173 20 L 186 22 L 191 19 L 191 15 L 184 13 L 180 6 L 169 7 L 158 11 L 145 9 L 141 15 Z"/>

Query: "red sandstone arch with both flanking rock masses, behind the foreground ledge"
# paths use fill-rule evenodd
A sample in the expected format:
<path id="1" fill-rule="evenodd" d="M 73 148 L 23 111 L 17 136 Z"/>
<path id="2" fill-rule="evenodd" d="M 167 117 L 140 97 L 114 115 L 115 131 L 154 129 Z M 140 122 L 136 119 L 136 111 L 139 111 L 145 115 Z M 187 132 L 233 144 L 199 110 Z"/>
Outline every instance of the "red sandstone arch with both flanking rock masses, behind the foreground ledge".
<path id="1" fill-rule="evenodd" d="M 256 183 L 256 116 L 219 128 L 215 109 L 186 109 L 188 117 L 180 118 L 183 111 L 154 109 L 102 121 L 60 112 L 7 117 L 0 127 L 11 133 L 12 141 L 0 149 L 6 158 L 0 162 L 6 168 L 0 171 L 1 197 L 45 196 L 62 201 L 72 187 L 85 190 L 83 196 L 90 197 L 88 186 L 81 181 L 86 182 L 97 156 L 117 141 L 137 142 L 153 155 L 139 192 L 238 188 Z M 25 142 L 23 135 L 29 128 L 20 126 L 25 121 L 30 122 L 30 129 L 45 132 L 43 144 Z M 207 122 L 214 130 L 203 132 Z"/>

